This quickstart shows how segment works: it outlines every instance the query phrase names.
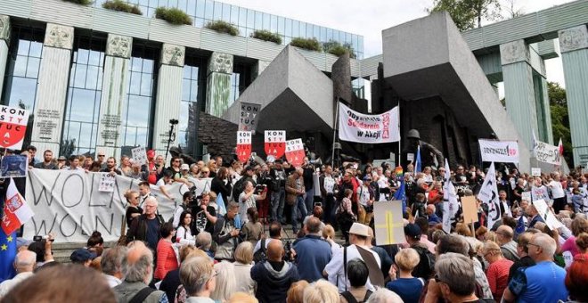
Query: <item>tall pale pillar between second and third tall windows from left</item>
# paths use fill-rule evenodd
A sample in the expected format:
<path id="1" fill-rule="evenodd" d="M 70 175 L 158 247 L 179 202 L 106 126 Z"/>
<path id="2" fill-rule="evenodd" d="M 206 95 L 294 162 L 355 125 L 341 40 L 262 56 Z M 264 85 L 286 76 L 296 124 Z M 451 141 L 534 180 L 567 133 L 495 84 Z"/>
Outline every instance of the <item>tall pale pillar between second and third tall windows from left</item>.
<path id="1" fill-rule="evenodd" d="M 122 115 L 127 104 L 133 38 L 108 34 L 96 151 L 120 156 Z M 132 111 L 132 109 L 129 109 Z"/>

